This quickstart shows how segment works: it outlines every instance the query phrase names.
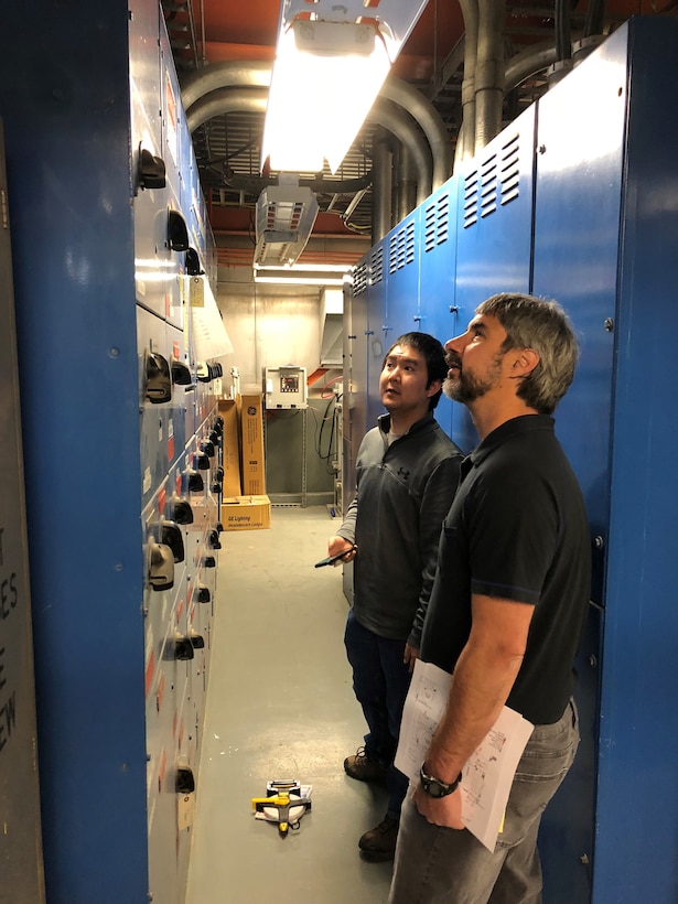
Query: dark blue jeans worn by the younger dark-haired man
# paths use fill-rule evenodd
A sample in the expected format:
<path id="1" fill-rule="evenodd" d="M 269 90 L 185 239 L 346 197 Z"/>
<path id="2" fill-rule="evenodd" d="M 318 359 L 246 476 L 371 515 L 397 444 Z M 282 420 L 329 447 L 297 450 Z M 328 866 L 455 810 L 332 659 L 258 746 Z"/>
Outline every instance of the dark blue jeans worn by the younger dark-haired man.
<path id="1" fill-rule="evenodd" d="M 405 641 L 379 637 L 364 627 L 351 610 L 344 644 L 353 668 L 353 690 L 369 728 L 365 752 L 370 760 L 388 767 L 388 812 L 398 818 L 408 787 L 407 777 L 394 766 L 402 707 L 411 679 L 402 661 Z"/>

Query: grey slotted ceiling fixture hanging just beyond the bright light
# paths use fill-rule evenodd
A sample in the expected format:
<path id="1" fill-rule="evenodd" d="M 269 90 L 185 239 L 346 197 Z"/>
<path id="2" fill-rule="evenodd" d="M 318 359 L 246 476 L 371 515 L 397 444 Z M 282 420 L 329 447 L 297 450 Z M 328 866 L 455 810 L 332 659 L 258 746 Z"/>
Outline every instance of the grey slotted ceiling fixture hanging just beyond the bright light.
<path id="1" fill-rule="evenodd" d="M 269 185 L 257 201 L 257 247 L 255 266 L 292 265 L 306 246 L 318 200 L 297 181 Z"/>

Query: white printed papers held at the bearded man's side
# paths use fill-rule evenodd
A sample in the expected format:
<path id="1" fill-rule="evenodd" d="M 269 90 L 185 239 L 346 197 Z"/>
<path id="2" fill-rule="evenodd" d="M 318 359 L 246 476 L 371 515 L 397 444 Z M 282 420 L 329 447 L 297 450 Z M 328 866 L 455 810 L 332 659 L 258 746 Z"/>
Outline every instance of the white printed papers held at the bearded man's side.
<path id="1" fill-rule="evenodd" d="M 417 659 L 405 701 L 396 766 L 419 781 L 419 768 L 448 702 L 452 676 Z M 504 707 L 462 770 L 462 819 L 469 831 L 494 851 L 504 821 L 506 801 L 534 725 Z"/>

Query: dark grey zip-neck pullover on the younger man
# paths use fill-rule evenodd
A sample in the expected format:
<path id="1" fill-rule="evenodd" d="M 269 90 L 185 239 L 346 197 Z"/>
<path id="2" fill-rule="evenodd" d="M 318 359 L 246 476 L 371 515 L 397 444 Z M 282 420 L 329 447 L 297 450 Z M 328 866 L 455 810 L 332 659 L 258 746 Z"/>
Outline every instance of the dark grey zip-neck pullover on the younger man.
<path id="1" fill-rule="evenodd" d="M 383 415 L 360 443 L 356 495 L 337 535 L 358 547 L 357 621 L 418 649 L 462 452 L 430 412 L 390 445 L 389 427 L 390 416 Z"/>

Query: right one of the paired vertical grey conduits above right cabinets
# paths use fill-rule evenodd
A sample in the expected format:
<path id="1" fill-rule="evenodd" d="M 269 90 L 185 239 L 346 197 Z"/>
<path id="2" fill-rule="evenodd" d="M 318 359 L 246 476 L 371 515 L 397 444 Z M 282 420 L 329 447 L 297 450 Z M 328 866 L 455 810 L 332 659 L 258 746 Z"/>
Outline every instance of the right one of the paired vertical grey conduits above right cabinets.
<path id="1" fill-rule="evenodd" d="M 504 0 L 478 0 L 475 66 L 475 151 L 502 131 L 504 103 Z"/>

